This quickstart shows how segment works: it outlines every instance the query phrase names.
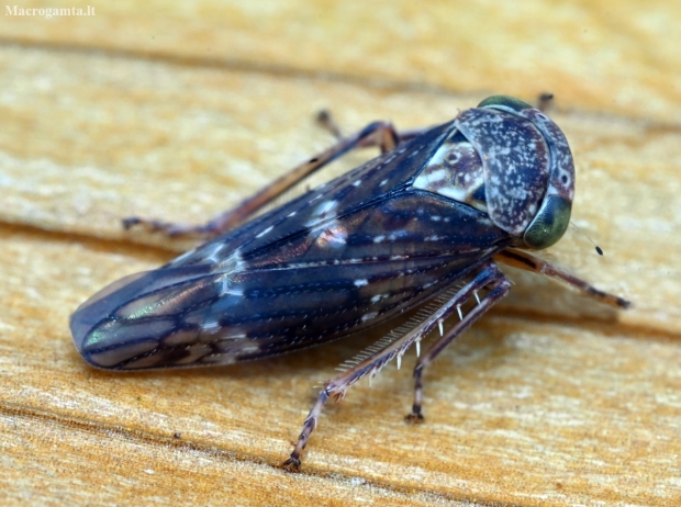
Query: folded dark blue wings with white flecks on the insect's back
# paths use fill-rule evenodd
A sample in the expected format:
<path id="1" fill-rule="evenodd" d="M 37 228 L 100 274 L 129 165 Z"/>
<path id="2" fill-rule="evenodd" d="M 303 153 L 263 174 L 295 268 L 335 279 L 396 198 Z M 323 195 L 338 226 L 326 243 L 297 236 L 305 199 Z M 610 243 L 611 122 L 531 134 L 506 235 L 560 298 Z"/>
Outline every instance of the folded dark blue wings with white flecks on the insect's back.
<path id="1" fill-rule="evenodd" d="M 426 301 L 511 243 L 483 213 L 410 187 L 448 132 L 104 289 L 71 318 L 78 350 L 100 368 L 225 364 L 338 338 Z"/>

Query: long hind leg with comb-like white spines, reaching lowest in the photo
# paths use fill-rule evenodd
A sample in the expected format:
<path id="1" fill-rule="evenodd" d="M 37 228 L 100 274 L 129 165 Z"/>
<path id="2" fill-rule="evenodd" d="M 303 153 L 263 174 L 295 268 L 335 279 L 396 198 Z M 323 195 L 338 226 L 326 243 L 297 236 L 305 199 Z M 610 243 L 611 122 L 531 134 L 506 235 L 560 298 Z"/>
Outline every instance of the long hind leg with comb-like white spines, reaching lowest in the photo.
<path id="1" fill-rule="evenodd" d="M 421 341 L 422 338 L 438 326 L 440 320 L 446 319 L 449 315 L 457 312 L 457 308 L 472 297 L 477 291 L 490 285 L 492 286 L 492 293 L 494 293 L 494 295 L 492 295 L 492 293 L 488 294 L 479 306 L 464 317 L 464 320 L 461 320 L 456 328 L 457 333 L 455 336 L 450 337 L 449 341 L 451 341 L 456 335 L 470 326 L 470 324 L 475 322 L 487 308 L 489 308 L 489 306 L 491 306 L 496 300 L 501 298 L 507 292 L 510 282 L 504 274 L 499 271 L 493 262 L 488 262 L 484 264 L 477 271 L 473 280 L 471 280 L 464 288 L 450 293 L 449 298 L 444 301 L 443 305 L 437 311 L 416 324 L 406 334 L 398 339 L 389 340 L 389 345 L 381 348 L 376 353 L 354 365 L 351 369 L 343 372 L 340 375 L 327 381 L 324 384 L 324 388 L 320 392 L 320 395 L 310 410 L 310 414 L 305 418 L 305 421 L 303 422 L 303 429 L 298 437 L 298 443 L 295 444 L 293 452 L 291 452 L 290 458 L 283 463 L 282 466 L 289 470 L 298 470 L 300 466 L 300 455 L 308 444 L 310 435 L 316 428 L 317 418 L 330 397 L 333 396 L 336 401 L 342 399 L 347 390 L 355 382 L 367 374 L 371 376 L 376 375 L 388 362 L 397 357 L 401 357 L 414 342 Z M 496 293 L 499 293 L 499 295 L 496 295 Z M 490 296 L 492 297 L 490 298 Z M 447 336 L 449 337 L 449 334 Z M 383 340 L 379 341 L 379 343 L 381 342 L 383 342 Z M 431 360 L 434 359 L 437 353 L 439 353 L 439 349 L 435 351 Z M 425 364 L 427 363 L 424 363 L 424 367 Z"/>

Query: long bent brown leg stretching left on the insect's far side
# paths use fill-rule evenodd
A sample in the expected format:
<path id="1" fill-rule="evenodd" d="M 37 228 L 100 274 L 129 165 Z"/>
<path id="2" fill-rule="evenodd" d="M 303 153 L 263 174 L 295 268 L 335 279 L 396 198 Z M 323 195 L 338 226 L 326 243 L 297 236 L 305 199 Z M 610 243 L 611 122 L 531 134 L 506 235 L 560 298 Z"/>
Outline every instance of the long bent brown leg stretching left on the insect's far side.
<path id="1" fill-rule="evenodd" d="M 393 149 L 400 140 L 401 137 L 391 123 L 375 122 L 367 125 L 357 134 L 338 140 L 334 146 L 293 168 L 258 191 L 255 195 L 242 201 L 236 207 L 217 215 L 208 224 L 192 226 L 131 216 L 123 219 L 123 227 L 129 229 L 133 226 L 142 226 L 149 232 L 164 232 L 168 236 L 200 236 L 202 238 L 212 238 L 245 222 L 254 213 L 303 178 L 314 173 L 348 151 L 360 147 L 378 146 L 381 151 L 384 153 Z"/>

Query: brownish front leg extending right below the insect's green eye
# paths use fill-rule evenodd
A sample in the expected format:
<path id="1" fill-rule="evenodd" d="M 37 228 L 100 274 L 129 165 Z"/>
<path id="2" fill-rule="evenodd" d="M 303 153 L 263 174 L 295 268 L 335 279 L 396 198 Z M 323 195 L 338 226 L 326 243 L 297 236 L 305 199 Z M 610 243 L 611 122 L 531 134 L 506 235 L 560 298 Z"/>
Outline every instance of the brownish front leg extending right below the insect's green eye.
<path id="1" fill-rule="evenodd" d="M 623 297 L 616 296 L 614 294 L 609 294 L 607 292 L 599 291 L 589 282 L 585 282 L 584 280 L 581 280 L 569 273 L 568 271 L 565 271 L 554 264 L 549 264 L 545 260 L 527 254 L 526 251 L 506 249 L 500 254 L 496 254 L 494 256 L 494 260 L 498 260 L 499 262 L 503 262 L 509 266 L 513 266 L 514 268 L 545 274 L 556 280 L 566 282 L 567 284 L 572 285 L 573 288 L 582 292 L 584 295 L 593 297 L 594 300 L 598 300 L 601 303 L 605 303 L 606 305 L 615 306 L 617 308 L 628 308 L 632 304 L 629 301 Z"/>

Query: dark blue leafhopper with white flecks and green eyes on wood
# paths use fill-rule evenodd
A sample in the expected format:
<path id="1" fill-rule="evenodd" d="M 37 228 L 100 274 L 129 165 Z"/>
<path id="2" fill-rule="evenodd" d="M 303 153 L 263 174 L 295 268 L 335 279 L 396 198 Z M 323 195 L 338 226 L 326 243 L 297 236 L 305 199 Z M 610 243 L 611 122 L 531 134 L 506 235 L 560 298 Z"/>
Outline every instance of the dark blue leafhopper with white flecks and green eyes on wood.
<path id="1" fill-rule="evenodd" d="M 295 181 L 368 145 L 382 154 L 244 223 Z M 414 370 L 408 418 L 423 418 L 425 368 L 509 292 L 498 262 L 626 308 L 626 300 L 533 255 L 563 235 L 573 194 L 565 135 L 517 99 L 491 97 L 448 123 L 411 133 L 373 123 L 206 226 L 129 219 L 127 226 L 215 237 L 103 289 L 74 313 L 71 333 L 97 368 L 206 367 L 317 345 L 428 302 L 324 384 L 284 462 L 298 469 L 330 397 L 342 398 L 411 346 L 420 351 L 421 340 L 439 328 Z M 465 313 L 468 301 L 477 305 Z M 444 333 L 454 314 L 458 322 Z"/>

